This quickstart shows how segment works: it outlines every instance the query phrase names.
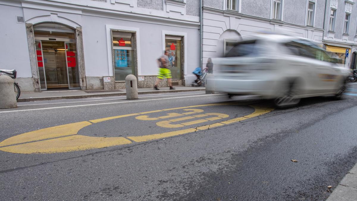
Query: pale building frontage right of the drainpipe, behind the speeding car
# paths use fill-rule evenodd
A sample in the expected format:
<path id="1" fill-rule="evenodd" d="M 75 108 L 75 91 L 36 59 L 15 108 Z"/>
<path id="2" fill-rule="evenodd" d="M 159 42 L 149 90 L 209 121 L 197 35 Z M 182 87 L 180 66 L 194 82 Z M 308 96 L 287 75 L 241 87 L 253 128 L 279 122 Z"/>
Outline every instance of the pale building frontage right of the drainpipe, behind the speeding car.
<path id="1" fill-rule="evenodd" d="M 356 6 L 353 0 L 204 0 L 203 67 L 237 40 L 282 33 L 314 40 L 346 68 L 356 68 Z"/>

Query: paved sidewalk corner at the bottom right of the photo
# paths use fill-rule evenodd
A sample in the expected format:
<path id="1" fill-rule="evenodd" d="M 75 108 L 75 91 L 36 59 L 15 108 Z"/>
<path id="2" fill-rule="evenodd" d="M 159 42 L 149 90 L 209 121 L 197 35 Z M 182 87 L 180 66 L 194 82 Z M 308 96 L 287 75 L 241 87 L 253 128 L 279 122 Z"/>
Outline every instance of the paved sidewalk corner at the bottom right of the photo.
<path id="1" fill-rule="evenodd" d="M 353 167 L 326 201 L 357 200 L 357 164 Z"/>

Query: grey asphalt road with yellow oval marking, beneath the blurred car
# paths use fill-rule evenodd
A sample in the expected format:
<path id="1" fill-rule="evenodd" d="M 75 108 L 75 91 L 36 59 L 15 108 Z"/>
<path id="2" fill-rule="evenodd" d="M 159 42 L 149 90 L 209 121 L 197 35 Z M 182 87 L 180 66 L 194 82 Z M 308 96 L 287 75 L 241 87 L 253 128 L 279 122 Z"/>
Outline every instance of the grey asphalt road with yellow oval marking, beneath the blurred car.
<path id="1" fill-rule="evenodd" d="M 202 92 L 147 94 L 130 101 L 105 97 L 19 103 L 0 111 L 0 142 L 14 139 L 0 143 L 0 197 L 324 200 L 330 195 L 327 186 L 333 190 L 357 162 L 356 100 L 357 83 L 343 100 L 307 98 L 288 109 L 273 109 L 253 96 L 228 99 Z M 260 108 L 265 112 L 258 115 Z M 127 114 L 132 116 L 117 117 Z M 107 117 L 115 118 L 103 119 Z M 81 150 L 90 142 L 62 141 L 63 136 L 35 139 L 39 133 L 19 140 L 22 133 L 75 122 L 90 125 L 73 134 L 100 137 L 110 146 L 64 151 L 61 143 L 74 142 L 72 148 Z M 179 133 L 186 129 L 195 130 Z M 167 133 L 173 136 L 165 137 Z M 145 140 L 139 142 L 138 136 Z M 111 144 L 119 138 L 129 143 Z"/>

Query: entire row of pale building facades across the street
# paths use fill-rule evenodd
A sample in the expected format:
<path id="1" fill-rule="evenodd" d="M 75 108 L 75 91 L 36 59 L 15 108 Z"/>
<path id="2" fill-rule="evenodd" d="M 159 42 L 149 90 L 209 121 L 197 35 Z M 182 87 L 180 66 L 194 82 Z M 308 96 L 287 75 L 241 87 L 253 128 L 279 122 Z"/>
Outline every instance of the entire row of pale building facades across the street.
<path id="1" fill-rule="evenodd" d="M 21 91 L 121 89 L 128 74 L 145 88 L 169 50 L 173 85 L 190 85 L 196 67 L 258 33 L 314 40 L 356 68 L 354 1 L 0 0 L 0 68 L 17 70 Z"/>

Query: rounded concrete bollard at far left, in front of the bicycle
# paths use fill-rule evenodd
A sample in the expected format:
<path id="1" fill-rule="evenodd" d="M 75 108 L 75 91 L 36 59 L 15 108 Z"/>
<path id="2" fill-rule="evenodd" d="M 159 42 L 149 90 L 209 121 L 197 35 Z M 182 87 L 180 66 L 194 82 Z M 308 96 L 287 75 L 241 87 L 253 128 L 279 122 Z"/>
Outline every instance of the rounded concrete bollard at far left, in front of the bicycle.
<path id="1" fill-rule="evenodd" d="M 0 109 L 17 107 L 14 80 L 7 75 L 0 76 Z"/>

